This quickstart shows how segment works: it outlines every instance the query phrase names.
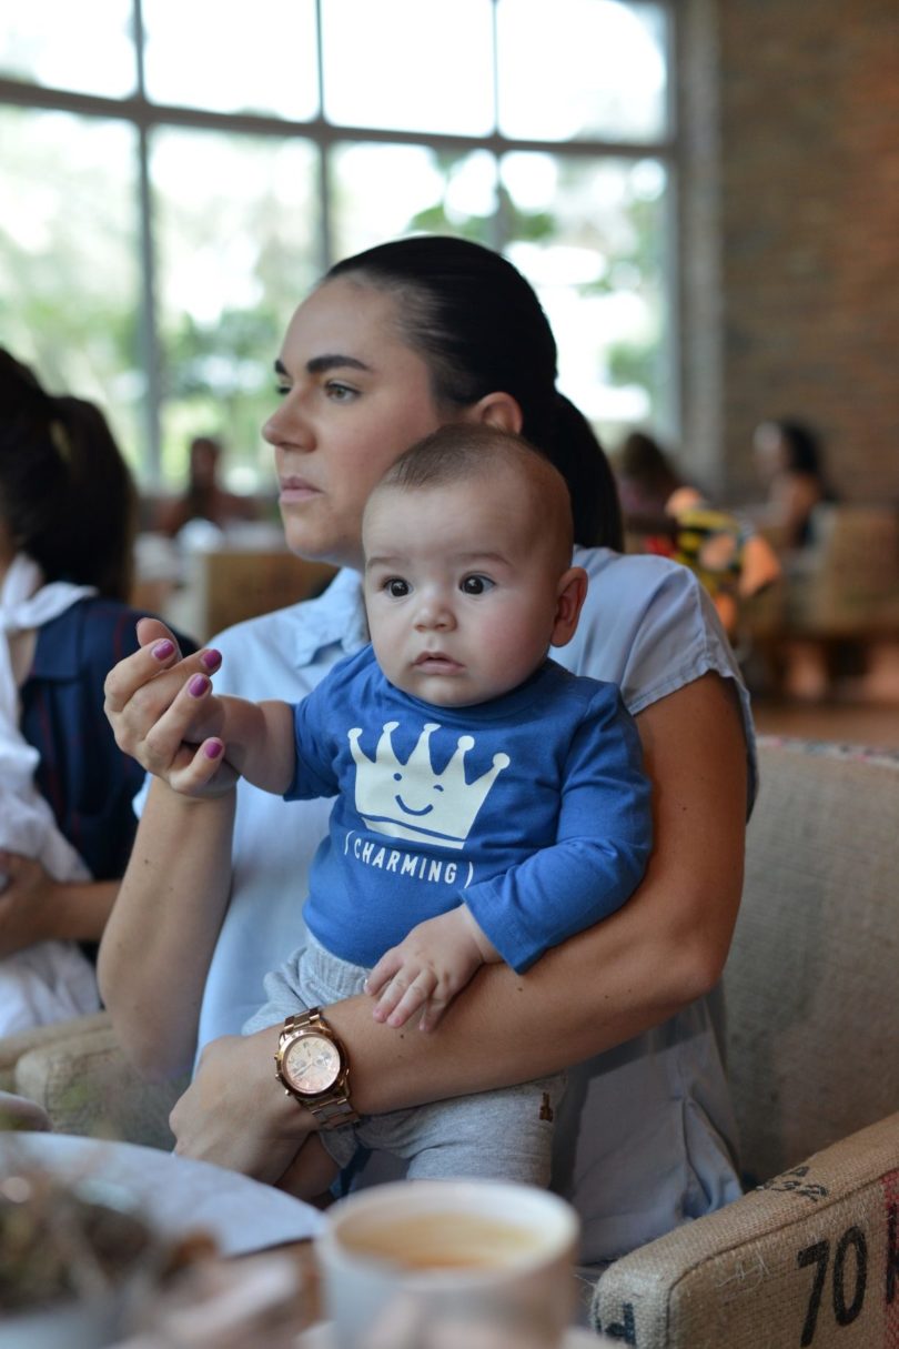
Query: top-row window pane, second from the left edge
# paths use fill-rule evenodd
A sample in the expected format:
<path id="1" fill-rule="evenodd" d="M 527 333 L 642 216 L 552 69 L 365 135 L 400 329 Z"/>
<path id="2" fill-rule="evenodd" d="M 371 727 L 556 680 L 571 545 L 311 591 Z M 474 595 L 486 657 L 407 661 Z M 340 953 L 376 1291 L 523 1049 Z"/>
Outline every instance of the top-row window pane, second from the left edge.
<path id="1" fill-rule="evenodd" d="M 305 120 L 318 112 L 314 0 L 143 0 L 156 103 Z"/>

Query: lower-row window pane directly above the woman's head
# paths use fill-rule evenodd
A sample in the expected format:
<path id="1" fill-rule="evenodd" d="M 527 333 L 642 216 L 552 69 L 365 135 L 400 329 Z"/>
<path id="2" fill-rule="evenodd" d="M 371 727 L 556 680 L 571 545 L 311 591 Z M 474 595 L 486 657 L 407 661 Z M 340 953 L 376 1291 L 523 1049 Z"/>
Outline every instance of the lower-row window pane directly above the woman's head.
<path id="1" fill-rule="evenodd" d="M 415 229 L 489 241 L 496 161 L 485 150 L 342 146 L 332 169 L 337 258 Z"/>

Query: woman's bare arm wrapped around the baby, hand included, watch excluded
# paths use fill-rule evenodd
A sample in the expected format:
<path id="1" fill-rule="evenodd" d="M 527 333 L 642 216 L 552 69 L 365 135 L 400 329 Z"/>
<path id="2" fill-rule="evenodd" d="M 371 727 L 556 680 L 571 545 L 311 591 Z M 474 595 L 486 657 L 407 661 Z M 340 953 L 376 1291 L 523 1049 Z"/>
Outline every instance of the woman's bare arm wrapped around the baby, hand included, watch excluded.
<path id="1" fill-rule="evenodd" d="M 633 897 L 524 975 L 480 970 L 441 1027 L 328 1008 L 353 1105 L 381 1113 L 522 1082 L 629 1040 L 718 981 L 743 889 L 747 746 L 732 681 L 705 674 L 636 718 L 654 784 L 655 849 Z M 576 990 L 574 996 L 573 992 Z M 209 1045 L 173 1112 L 178 1151 L 278 1179 L 310 1120 L 274 1078 L 278 1028 Z"/>

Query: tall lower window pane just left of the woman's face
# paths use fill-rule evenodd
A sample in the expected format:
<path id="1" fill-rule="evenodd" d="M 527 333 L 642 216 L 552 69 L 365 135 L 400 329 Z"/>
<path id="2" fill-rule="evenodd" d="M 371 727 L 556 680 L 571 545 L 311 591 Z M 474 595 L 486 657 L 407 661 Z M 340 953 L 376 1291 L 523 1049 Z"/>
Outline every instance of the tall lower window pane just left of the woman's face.
<path id="1" fill-rule="evenodd" d="M 163 478 L 221 436 L 230 484 L 271 486 L 260 426 L 294 308 L 318 278 L 317 152 L 306 140 L 158 131 L 151 181 L 163 347 Z"/>

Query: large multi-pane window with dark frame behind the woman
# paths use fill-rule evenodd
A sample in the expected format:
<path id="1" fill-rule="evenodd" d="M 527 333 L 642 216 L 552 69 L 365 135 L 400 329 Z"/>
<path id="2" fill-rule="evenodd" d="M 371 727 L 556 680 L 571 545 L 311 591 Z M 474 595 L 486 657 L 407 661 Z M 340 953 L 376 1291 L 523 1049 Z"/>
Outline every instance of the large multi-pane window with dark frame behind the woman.
<path id="1" fill-rule="evenodd" d="M 0 20 L 0 329 L 147 486 L 259 426 L 333 259 L 478 239 L 611 442 L 674 430 L 670 9 L 647 0 L 42 0 Z"/>

